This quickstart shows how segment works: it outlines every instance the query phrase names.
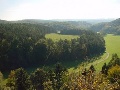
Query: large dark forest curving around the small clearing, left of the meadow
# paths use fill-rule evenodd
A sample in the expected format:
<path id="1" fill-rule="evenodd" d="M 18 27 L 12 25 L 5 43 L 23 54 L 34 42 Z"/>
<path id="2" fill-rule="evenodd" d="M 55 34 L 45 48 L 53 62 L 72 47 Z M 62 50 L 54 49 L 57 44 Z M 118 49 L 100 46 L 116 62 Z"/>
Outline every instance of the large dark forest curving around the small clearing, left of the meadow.
<path id="1" fill-rule="evenodd" d="M 54 29 L 35 24 L 1 24 L 0 70 L 84 60 L 105 51 L 103 37 L 94 32 L 84 31 L 78 39 L 57 42 L 44 37 L 51 32 Z"/>

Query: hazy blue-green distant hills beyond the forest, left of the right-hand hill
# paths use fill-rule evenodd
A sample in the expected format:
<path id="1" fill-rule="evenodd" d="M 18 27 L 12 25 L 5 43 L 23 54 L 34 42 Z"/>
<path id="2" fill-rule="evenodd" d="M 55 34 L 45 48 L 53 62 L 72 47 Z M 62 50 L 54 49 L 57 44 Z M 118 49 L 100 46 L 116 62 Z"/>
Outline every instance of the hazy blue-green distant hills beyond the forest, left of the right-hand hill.
<path id="1" fill-rule="evenodd" d="M 54 27 L 56 30 L 65 30 L 73 28 L 85 28 L 87 29 L 92 24 L 87 23 L 86 21 L 54 21 L 54 20 L 40 20 L 40 19 L 25 19 L 18 21 L 5 21 L 0 20 L 0 22 L 5 23 L 30 23 L 30 24 L 41 24 L 49 27 Z"/>

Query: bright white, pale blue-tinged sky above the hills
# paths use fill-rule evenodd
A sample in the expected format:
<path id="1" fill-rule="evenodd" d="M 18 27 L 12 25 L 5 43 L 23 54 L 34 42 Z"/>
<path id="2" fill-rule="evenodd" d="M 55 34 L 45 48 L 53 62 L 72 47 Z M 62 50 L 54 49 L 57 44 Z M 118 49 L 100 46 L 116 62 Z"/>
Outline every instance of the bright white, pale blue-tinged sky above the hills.
<path id="1" fill-rule="evenodd" d="M 120 18 L 120 0 L 0 0 L 0 19 Z"/>

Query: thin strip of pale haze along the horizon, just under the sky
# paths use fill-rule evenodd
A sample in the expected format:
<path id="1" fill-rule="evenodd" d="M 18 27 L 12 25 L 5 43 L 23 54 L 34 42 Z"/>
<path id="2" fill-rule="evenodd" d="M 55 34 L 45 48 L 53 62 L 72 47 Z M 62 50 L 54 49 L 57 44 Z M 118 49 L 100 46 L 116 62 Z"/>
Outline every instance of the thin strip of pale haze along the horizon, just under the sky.
<path id="1" fill-rule="evenodd" d="M 50 20 L 44 20 L 44 19 L 23 19 L 23 20 L 15 20 L 15 21 L 8 21 L 8 22 L 15 22 L 15 23 L 46 23 L 46 22 L 66 22 L 66 21 L 83 21 L 87 22 L 90 24 L 96 24 L 100 22 L 110 22 L 115 19 L 50 19 Z M 2 20 L 0 21 L 7 21 L 7 20 Z"/>

